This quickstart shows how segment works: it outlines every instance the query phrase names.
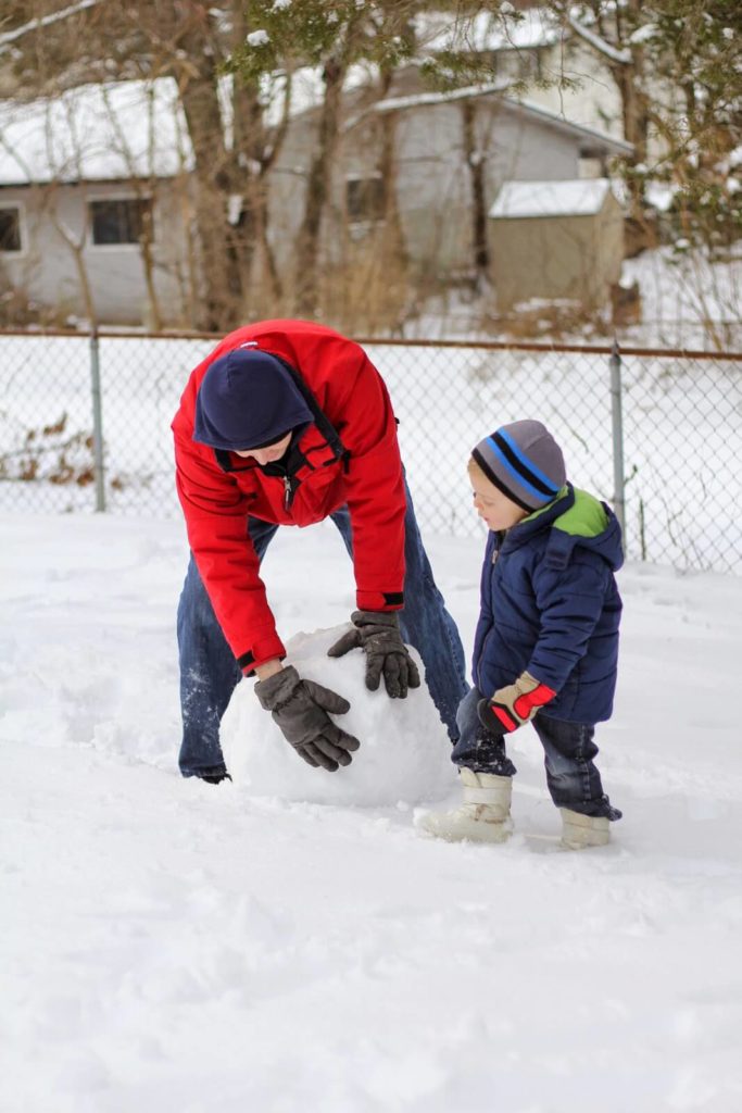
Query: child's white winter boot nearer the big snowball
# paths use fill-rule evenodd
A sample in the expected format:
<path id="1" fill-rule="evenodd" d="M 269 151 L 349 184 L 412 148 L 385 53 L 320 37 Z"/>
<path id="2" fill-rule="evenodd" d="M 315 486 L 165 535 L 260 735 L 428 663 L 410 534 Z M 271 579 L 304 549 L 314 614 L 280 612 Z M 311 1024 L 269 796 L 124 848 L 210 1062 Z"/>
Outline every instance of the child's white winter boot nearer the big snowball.
<path id="1" fill-rule="evenodd" d="M 509 837 L 513 778 L 474 772 L 462 767 L 458 771 L 464 802 L 455 811 L 429 811 L 418 826 L 428 835 L 448 843 L 471 839 L 473 843 L 504 843 Z"/>

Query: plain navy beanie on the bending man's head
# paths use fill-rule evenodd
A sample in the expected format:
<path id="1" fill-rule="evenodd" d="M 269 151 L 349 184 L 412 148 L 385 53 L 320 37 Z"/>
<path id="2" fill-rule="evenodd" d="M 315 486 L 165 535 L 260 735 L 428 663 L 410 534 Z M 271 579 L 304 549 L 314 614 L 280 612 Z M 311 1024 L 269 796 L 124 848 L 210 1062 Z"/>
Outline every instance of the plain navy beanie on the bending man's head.
<path id="1" fill-rule="evenodd" d="M 234 348 L 201 381 L 194 441 L 228 451 L 261 449 L 311 420 L 280 359 L 254 347 Z"/>

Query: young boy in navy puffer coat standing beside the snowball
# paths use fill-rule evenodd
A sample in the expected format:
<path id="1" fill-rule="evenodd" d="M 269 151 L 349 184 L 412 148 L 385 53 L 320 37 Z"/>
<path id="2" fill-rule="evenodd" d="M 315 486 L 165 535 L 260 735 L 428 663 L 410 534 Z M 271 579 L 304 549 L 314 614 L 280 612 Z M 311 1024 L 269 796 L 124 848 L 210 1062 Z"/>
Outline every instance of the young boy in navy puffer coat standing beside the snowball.
<path id="1" fill-rule="evenodd" d="M 464 804 L 421 826 L 449 840 L 507 838 L 515 766 L 505 736 L 531 722 L 562 844 L 603 846 L 621 818 L 594 765 L 594 725 L 613 709 L 621 529 L 613 512 L 566 482 L 562 451 L 537 421 L 503 425 L 468 464 L 474 506 L 489 528 L 473 658 L 475 687 L 457 722 Z"/>

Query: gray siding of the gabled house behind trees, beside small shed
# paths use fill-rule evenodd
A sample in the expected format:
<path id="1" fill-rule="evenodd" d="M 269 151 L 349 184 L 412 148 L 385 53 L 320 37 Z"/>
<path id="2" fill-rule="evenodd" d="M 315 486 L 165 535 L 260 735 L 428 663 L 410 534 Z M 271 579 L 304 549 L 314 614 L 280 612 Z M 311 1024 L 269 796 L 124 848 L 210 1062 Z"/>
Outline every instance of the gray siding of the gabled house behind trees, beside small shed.
<path id="1" fill-rule="evenodd" d="M 525 117 L 496 95 L 475 97 L 471 104 L 487 205 L 503 181 L 511 178 L 577 177 L 580 141 L 575 136 Z M 464 149 L 462 101 L 406 108 L 388 117 L 369 114 L 343 136 L 334 160 L 330 204 L 323 229 L 326 262 L 338 264 L 347 258 L 346 179 L 377 173 L 380 127 L 394 129 L 396 206 L 404 253 L 413 269 L 433 270 L 442 278 L 471 269 L 472 180 Z M 291 124 L 271 174 L 270 238 L 283 265 L 290 259 L 300 225 L 316 128 L 316 117 Z M 372 230 L 356 229 L 356 235 Z"/>

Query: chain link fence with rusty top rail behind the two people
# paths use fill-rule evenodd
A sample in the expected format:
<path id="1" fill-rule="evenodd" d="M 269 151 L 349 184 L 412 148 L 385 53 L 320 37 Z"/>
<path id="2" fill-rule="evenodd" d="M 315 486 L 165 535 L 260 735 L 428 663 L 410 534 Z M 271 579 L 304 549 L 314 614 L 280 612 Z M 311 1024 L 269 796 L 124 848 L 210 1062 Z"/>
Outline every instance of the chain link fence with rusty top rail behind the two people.
<path id="1" fill-rule="evenodd" d="M 218 338 L 0 333 L 0 509 L 178 514 L 169 425 Z M 742 573 L 742 354 L 360 343 L 426 532 L 481 531 L 471 449 L 537 417 L 572 482 L 616 506 L 630 559 Z"/>

